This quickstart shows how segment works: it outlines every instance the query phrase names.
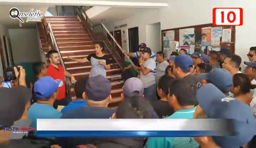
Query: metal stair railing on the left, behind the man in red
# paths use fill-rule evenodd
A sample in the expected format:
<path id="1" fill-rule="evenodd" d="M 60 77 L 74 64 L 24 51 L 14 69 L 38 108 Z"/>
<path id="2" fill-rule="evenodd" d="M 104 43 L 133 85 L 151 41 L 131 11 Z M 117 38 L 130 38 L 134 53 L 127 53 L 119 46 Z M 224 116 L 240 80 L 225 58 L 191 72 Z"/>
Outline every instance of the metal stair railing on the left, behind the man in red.
<path id="1" fill-rule="evenodd" d="M 46 22 L 45 17 L 43 17 L 42 23 L 43 23 L 44 35 L 46 36 L 47 44 L 51 44 L 51 47 L 52 47 L 51 50 L 56 50 L 58 52 L 58 54 L 60 56 L 60 64 L 63 67 L 63 69 L 66 70 L 65 64 L 63 62 L 62 55 L 60 53 L 60 50 L 59 50 L 57 41 L 56 41 L 56 39 L 54 37 L 53 30 L 52 30 L 52 27 L 51 27 L 50 23 Z M 67 91 L 66 93 L 67 93 L 68 97 L 71 98 L 70 86 L 72 86 L 72 84 L 71 84 L 70 79 L 67 78 L 66 76 L 65 76 L 65 86 L 66 86 L 66 91 Z"/>

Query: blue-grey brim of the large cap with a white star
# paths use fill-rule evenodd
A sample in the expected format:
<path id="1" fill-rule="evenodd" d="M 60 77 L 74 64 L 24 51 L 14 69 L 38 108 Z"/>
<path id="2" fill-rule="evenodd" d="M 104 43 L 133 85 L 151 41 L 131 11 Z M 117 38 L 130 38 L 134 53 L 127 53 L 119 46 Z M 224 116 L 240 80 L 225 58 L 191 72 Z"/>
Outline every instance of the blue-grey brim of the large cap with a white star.
<path id="1" fill-rule="evenodd" d="M 225 97 L 226 96 L 223 92 L 221 92 L 216 86 L 210 83 L 201 86 L 197 90 L 196 94 L 199 105 L 207 115 L 210 114 L 210 106 L 212 105 L 212 101 Z"/>

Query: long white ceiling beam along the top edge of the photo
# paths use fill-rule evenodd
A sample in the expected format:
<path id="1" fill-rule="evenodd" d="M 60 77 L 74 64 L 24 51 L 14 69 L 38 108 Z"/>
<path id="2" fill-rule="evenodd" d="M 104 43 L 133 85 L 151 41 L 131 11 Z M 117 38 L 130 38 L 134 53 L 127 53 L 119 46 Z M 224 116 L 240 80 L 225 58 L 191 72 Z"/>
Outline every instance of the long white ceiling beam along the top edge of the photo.
<path id="1" fill-rule="evenodd" d="M 139 1 L 139 0 L 138 0 Z M 100 0 L 0 0 L 1 5 L 69 5 L 69 6 L 108 6 L 133 8 L 160 8 L 167 7 L 167 3 L 157 2 L 126 2 Z"/>

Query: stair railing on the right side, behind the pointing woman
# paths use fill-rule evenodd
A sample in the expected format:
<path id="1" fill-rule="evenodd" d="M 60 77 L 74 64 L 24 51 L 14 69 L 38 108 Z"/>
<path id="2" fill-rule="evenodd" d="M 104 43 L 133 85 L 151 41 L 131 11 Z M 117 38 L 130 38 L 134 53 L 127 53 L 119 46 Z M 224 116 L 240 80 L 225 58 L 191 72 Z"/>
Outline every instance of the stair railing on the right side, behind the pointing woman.
<path id="1" fill-rule="evenodd" d="M 111 50 L 112 48 L 107 46 L 105 40 L 101 40 L 101 41 L 103 41 L 103 43 L 105 44 L 105 46 L 109 49 L 109 51 L 110 51 L 111 53 L 116 52 L 117 54 L 115 54 L 115 55 L 118 55 L 119 58 L 121 58 L 121 59 L 124 59 L 124 57 L 126 57 L 126 58 L 128 59 L 128 61 L 129 61 L 133 66 L 135 66 L 134 63 L 132 62 L 132 60 L 129 58 L 129 56 L 127 56 L 126 54 L 122 53 L 122 47 L 118 44 L 118 42 L 116 41 L 116 39 L 115 39 L 115 38 L 113 37 L 113 35 L 109 32 L 109 30 L 106 28 L 106 26 L 105 26 L 104 24 L 100 23 L 100 24 L 97 24 L 97 25 L 92 25 L 92 22 L 91 22 L 90 18 L 86 15 L 86 12 L 84 11 L 84 9 L 83 9 L 82 7 L 79 7 L 79 6 L 76 6 L 76 8 L 77 8 L 77 10 L 78 10 L 78 13 L 81 13 L 81 15 L 78 14 L 78 16 L 79 16 L 79 17 L 80 17 L 80 16 L 83 16 L 83 18 L 80 18 L 81 21 L 82 21 L 82 22 L 83 22 L 83 21 L 86 21 L 86 22 L 87 22 L 87 23 L 86 23 L 86 24 L 87 24 L 87 27 L 86 27 L 86 25 L 85 25 L 85 28 L 87 29 L 87 31 L 89 32 L 89 34 L 90 34 L 90 36 L 92 37 L 93 40 L 95 40 L 95 39 L 94 39 L 94 37 L 93 37 L 91 34 L 94 32 L 94 27 L 97 26 L 97 25 L 101 25 L 102 32 L 103 32 L 103 30 L 104 30 L 104 31 L 111 37 L 111 39 L 112 39 L 113 42 L 114 42 L 114 43 L 112 44 L 111 41 L 107 39 L 107 41 L 108 41 L 111 45 L 113 45 L 113 47 L 114 47 L 113 50 Z M 84 23 L 84 22 L 83 22 L 83 23 Z M 89 29 L 88 29 L 88 28 L 89 28 Z M 104 34 L 102 34 L 102 35 L 104 35 Z M 118 48 L 115 48 L 115 47 L 116 47 L 115 45 L 116 45 Z M 119 53 L 118 53 L 117 50 L 119 50 Z M 121 53 L 121 54 L 120 54 L 120 53 Z M 117 61 L 117 59 L 115 58 L 115 56 L 113 56 L 113 57 L 114 57 L 114 59 Z M 123 70 L 124 67 L 121 66 L 121 64 L 120 64 L 119 62 L 121 62 L 121 61 L 117 61 L 117 63 L 119 64 L 119 66 L 120 66 L 121 69 Z M 123 61 L 123 62 L 124 62 L 124 61 Z"/>

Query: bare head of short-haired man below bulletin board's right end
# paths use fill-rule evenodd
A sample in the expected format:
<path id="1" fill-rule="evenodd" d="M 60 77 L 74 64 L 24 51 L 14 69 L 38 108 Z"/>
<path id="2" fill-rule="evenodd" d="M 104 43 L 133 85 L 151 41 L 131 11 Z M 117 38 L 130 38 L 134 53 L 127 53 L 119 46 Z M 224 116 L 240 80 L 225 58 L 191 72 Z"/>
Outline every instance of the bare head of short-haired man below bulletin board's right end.
<path id="1" fill-rule="evenodd" d="M 224 60 L 222 67 L 223 69 L 228 70 L 233 76 L 237 73 L 241 73 L 239 70 L 241 62 L 242 62 L 242 59 L 239 55 L 235 55 L 235 54 L 229 55 Z"/>

